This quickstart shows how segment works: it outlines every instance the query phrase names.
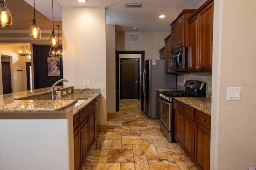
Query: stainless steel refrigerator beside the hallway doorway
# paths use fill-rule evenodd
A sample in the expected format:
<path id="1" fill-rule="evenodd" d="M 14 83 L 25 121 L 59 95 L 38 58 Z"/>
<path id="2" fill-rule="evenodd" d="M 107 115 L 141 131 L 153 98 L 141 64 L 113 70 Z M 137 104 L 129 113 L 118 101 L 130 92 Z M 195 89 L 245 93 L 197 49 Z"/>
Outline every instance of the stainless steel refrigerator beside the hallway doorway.
<path id="1" fill-rule="evenodd" d="M 144 113 L 149 118 L 159 118 L 156 114 L 156 89 L 176 89 L 176 74 L 164 72 L 164 60 L 144 61 L 142 89 L 144 94 Z"/>

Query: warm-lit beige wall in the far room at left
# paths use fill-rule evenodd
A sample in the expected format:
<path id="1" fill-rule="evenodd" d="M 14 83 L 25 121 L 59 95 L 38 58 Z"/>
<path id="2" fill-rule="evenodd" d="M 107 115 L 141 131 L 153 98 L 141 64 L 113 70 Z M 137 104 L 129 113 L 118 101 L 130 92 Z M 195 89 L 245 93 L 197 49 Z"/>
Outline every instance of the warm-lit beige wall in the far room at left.
<path id="1" fill-rule="evenodd" d="M 12 92 L 27 90 L 26 62 L 31 62 L 31 59 L 27 59 L 26 56 L 19 56 L 18 51 L 21 49 L 22 45 L 0 45 L 0 55 L 6 56 L 11 64 Z M 23 71 L 14 71 L 14 69 Z M 2 66 L 0 66 L 0 94 L 3 94 Z"/>

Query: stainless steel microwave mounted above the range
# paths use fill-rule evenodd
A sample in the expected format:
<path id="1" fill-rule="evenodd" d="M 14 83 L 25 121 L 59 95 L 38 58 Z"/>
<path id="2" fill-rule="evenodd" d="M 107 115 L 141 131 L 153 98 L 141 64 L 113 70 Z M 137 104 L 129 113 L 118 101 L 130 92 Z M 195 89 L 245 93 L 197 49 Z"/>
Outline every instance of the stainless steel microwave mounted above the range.
<path id="1" fill-rule="evenodd" d="M 180 47 L 171 52 L 171 70 L 187 71 L 188 70 L 188 47 Z"/>

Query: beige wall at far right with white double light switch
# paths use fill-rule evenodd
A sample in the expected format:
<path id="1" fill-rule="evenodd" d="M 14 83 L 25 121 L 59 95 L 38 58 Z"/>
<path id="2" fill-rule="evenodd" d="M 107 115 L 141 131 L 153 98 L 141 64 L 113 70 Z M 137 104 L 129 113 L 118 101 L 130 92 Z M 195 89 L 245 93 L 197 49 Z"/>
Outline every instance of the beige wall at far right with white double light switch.
<path id="1" fill-rule="evenodd" d="M 214 0 L 211 170 L 256 168 L 256 1 Z M 241 100 L 227 101 L 227 88 Z"/>

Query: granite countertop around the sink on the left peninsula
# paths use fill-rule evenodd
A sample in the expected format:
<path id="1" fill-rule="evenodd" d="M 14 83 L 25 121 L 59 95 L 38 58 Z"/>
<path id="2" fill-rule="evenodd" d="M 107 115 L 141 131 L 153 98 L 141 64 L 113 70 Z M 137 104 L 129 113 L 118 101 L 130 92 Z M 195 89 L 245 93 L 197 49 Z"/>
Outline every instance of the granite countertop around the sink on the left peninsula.
<path id="1" fill-rule="evenodd" d="M 57 88 L 63 90 L 73 88 L 73 86 L 56 86 L 54 90 Z M 0 112 L 60 111 L 76 104 L 77 100 L 87 99 L 73 109 L 74 115 L 100 95 L 100 93 L 72 93 L 64 96 L 61 100 L 49 100 L 48 98 L 44 100 L 43 95 L 49 96 L 49 92 L 51 92 L 51 87 L 0 95 Z M 41 97 L 41 100 L 35 100 L 33 98 L 35 98 L 36 95 L 42 95 L 43 97 Z"/>

